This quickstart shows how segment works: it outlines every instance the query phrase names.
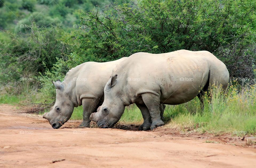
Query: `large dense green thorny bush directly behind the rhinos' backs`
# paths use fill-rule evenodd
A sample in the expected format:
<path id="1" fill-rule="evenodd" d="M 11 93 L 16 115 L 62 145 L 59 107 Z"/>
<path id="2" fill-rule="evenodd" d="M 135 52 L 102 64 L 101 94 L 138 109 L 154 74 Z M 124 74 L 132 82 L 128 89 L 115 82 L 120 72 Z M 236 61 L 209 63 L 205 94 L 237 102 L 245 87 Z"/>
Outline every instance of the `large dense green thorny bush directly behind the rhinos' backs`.
<path id="1" fill-rule="evenodd" d="M 83 13 L 77 61 L 105 62 L 136 52 L 207 50 L 231 76 L 252 76 L 256 1 L 139 1 Z M 231 56 L 232 55 L 232 56 Z M 249 73 L 247 72 L 248 70 Z"/>

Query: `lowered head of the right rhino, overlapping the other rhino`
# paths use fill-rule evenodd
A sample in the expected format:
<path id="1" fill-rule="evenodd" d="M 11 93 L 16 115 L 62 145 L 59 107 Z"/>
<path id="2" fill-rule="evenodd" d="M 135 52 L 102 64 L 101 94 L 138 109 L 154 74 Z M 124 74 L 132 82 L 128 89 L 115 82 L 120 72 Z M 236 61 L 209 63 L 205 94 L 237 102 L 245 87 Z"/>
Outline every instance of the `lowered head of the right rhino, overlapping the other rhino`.
<path id="1" fill-rule="evenodd" d="M 97 123 L 101 128 L 112 128 L 121 118 L 125 105 L 118 93 L 121 88 L 114 87 L 117 83 L 117 75 L 111 76 L 104 88 L 104 102 L 92 113 L 90 119 Z"/>

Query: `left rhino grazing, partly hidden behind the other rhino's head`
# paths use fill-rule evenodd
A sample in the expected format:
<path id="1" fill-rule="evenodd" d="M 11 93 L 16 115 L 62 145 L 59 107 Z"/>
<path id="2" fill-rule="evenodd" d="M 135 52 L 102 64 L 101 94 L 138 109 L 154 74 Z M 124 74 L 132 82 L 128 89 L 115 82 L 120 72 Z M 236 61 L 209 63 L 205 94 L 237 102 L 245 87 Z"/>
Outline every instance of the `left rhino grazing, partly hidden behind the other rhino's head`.
<path id="1" fill-rule="evenodd" d="M 104 63 L 85 62 L 69 70 L 62 82 L 53 82 L 56 101 L 50 112 L 43 114 L 43 118 L 56 129 L 69 120 L 74 107 L 83 105 L 83 122 L 80 126 L 89 127 L 89 117 L 103 102 L 104 87 L 113 68 L 126 58 Z"/>

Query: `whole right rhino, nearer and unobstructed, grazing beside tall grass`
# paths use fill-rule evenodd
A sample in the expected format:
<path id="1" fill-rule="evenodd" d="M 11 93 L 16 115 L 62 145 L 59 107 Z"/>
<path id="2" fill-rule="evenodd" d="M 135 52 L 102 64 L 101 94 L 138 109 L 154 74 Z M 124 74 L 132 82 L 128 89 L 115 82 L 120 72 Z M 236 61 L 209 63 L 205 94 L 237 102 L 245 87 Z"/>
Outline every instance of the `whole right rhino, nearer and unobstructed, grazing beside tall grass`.
<path id="1" fill-rule="evenodd" d="M 90 119 L 98 127 L 111 128 L 125 106 L 135 103 L 142 111 L 143 130 L 153 129 L 164 124 L 159 105 L 178 105 L 196 96 L 202 102 L 209 86 L 218 84 L 226 91 L 228 83 L 225 64 L 208 51 L 135 53 L 113 69 L 104 89 L 104 102 Z"/>

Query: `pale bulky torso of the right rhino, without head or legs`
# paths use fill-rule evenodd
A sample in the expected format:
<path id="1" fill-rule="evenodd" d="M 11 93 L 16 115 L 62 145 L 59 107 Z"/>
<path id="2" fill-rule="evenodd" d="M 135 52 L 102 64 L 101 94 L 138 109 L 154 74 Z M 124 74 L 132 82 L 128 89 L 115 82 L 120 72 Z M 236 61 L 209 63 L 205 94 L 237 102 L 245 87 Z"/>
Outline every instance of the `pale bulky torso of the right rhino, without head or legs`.
<path id="1" fill-rule="evenodd" d="M 163 54 L 135 53 L 114 68 L 131 102 L 142 93 L 161 96 L 161 103 L 192 100 L 209 79 L 211 68 L 226 66 L 208 51 L 178 50 Z M 216 68 L 215 68 L 216 69 Z M 225 71 L 225 70 L 223 70 Z"/>

